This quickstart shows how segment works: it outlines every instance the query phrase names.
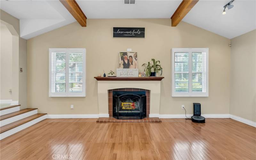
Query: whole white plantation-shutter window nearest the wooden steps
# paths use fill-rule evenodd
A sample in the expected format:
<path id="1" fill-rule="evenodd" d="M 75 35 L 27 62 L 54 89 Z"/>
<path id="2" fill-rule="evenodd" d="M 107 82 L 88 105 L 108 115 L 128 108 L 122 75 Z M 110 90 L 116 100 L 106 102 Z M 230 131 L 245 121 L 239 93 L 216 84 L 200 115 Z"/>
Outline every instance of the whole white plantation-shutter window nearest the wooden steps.
<path id="1" fill-rule="evenodd" d="M 85 49 L 49 49 L 49 96 L 85 97 Z"/>

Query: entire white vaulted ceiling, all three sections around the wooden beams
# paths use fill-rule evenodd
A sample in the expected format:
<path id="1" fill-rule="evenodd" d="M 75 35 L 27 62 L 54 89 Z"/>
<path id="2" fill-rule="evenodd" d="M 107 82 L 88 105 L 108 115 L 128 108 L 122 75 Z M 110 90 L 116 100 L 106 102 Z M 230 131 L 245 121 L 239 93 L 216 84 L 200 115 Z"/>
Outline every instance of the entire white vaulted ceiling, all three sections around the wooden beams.
<path id="1" fill-rule="evenodd" d="M 199 0 L 183 21 L 227 38 L 256 29 L 256 0 L 235 0 L 222 15 L 229 0 Z M 77 0 L 88 19 L 170 18 L 181 0 Z M 0 8 L 20 19 L 20 36 L 38 36 L 76 21 L 59 0 L 1 0 Z"/>

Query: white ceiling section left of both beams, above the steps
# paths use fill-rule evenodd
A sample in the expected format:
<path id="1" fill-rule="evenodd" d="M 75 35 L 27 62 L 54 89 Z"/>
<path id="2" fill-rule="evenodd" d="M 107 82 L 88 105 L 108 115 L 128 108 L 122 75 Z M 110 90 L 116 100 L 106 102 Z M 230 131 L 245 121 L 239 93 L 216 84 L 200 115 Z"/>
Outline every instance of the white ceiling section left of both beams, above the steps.
<path id="1" fill-rule="evenodd" d="M 20 37 L 24 39 L 76 21 L 59 0 L 1 0 L 0 8 L 20 19 Z"/>

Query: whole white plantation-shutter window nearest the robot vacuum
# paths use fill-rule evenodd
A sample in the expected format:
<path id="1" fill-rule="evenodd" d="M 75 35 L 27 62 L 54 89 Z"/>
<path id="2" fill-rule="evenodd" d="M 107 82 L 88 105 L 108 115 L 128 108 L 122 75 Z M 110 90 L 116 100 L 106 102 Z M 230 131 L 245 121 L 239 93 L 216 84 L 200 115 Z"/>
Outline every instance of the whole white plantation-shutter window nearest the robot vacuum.
<path id="1" fill-rule="evenodd" d="M 208 48 L 172 49 L 172 96 L 208 97 Z"/>

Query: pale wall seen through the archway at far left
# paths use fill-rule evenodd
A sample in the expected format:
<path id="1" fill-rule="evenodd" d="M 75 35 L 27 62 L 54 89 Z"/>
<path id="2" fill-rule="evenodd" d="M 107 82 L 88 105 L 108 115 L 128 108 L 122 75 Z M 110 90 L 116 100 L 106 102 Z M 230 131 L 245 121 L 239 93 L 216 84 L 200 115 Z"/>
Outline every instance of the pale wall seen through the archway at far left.
<path id="1" fill-rule="evenodd" d="M 1 41 L 1 100 L 12 100 L 12 94 L 9 92 L 12 89 L 12 34 L 6 25 L 1 24 L 0 28 Z"/>

